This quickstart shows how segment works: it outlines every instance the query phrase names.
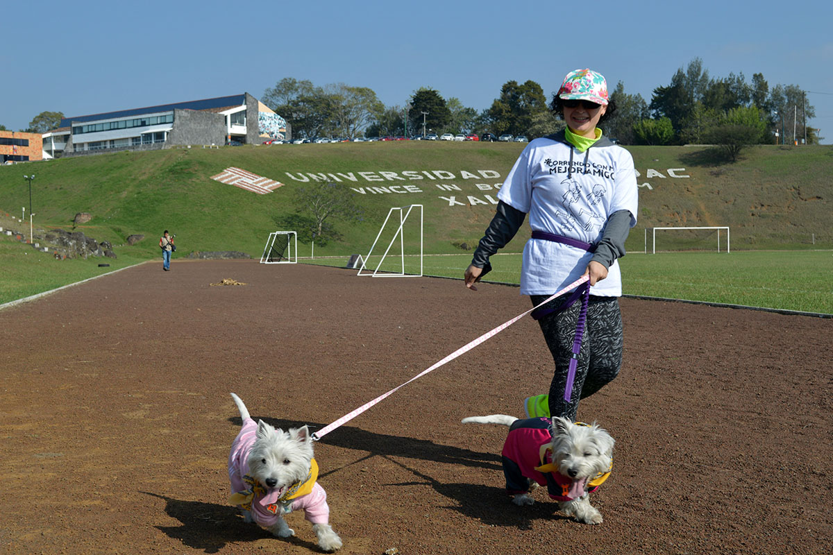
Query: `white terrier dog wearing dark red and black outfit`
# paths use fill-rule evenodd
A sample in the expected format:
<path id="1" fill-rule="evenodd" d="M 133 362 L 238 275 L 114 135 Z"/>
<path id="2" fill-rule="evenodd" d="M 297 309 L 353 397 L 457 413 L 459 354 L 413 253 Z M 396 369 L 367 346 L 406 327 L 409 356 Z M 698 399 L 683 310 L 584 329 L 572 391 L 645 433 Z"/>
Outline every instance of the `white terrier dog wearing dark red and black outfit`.
<path id="1" fill-rule="evenodd" d="M 601 513 L 590 504 L 590 493 L 611 473 L 614 441 L 596 423 L 563 418 L 521 420 L 506 414 L 472 416 L 462 422 L 509 426 L 501 454 L 506 493 L 515 496 L 512 503 L 531 505 L 530 486 L 546 485 L 563 512 L 581 523 L 601 523 Z"/>

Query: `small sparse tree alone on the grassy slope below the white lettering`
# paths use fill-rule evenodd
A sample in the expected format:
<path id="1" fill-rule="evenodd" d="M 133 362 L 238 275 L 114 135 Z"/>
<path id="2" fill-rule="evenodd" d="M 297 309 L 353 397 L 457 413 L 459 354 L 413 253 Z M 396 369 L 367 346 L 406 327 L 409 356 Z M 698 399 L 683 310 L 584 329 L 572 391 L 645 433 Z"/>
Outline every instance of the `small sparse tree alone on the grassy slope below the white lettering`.
<path id="1" fill-rule="evenodd" d="M 358 221 L 361 218 L 361 209 L 353 200 L 350 189 L 340 183 L 312 181 L 298 186 L 295 205 L 297 214 L 302 216 L 297 223 L 302 224 L 306 216 L 308 225 L 305 227 L 311 234 L 315 233 L 316 240 L 338 238 L 332 220 Z"/>

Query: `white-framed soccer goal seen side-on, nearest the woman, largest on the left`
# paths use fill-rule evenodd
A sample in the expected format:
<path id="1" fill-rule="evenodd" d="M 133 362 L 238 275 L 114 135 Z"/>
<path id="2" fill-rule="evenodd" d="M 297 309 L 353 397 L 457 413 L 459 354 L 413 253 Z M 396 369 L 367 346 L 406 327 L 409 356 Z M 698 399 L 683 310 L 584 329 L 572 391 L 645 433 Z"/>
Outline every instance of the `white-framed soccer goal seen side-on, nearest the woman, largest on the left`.
<path id="1" fill-rule="evenodd" d="M 414 209 L 417 209 L 416 211 Z M 413 216 L 412 216 L 413 212 Z M 416 212 L 419 216 L 416 216 Z M 393 216 L 393 218 L 391 217 Z M 408 218 L 411 218 L 410 225 Z M 417 221 L 418 220 L 418 221 Z M 388 223 L 390 222 L 390 225 Z M 393 207 L 387 211 L 387 217 L 382 228 L 373 240 L 373 245 L 367 256 L 362 260 L 359 266 L 357 275 L 372 275 L 373 277 L 419 277 L 422 275 L 422 205 L 416 204 L 411 206 Z M 377 244 L 380 244 L 380 239 L 384 242 L 390 238 L 385 249 L 384 254 L 375 255 L 372 258 L 373 250 L 376 249 Z M 394 245 L 398 245 L 394 248 Z M 419 245 L 418 254 L 416 247 Z M 381 248 L 381 247 L 380 247 Z M 393 249 L 393 252 L 392 252 Z M 391 255 L 390 258 L 388 255 Z M 407 259 L 407 269 L 406 269 Z M 377 261 L 378 260 L 378 261 Z M 370 271 L 369 265 L 376 264 L 376 269 Z M 407 271 L 406 271 L 407 270 Z"/>

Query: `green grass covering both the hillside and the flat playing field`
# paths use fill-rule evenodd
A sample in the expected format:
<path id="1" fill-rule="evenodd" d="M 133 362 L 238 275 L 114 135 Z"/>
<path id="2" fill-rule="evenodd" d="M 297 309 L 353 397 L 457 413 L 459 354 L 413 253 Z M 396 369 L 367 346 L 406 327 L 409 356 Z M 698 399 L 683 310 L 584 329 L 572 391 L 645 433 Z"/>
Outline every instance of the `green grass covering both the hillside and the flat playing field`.
<path id="1" fill-rule="evenodd" d="M 195 146 L 0 166 L 0 216 L 5 221 L 25 227 L 13 222 L 21 215 L 21 206 L 29 211 L 27 181 L 22 176 L 32 171 L 37 175 L 32 181 L 36 227 L 74 229 L 73 216 L 89 212 L 92 221 L 77 230 L 111 242 L 118 256 L 116 260 L 54 260 L 2 235 L 0 303 L 155 260 L 163 229 L 177 234 L 174 260 L 206 250 L 239 250 L 257 259 L 269 232 L 277 229 L 275 219 L 297 210 L 294 191 L 302 182 L 292 181 L 292 176 L 324 172 L 328 180 L 341 176 L 342 186 L 364 191 L 356 194 L 364 215 L 355 223 L 333 221 L 341 236 L 326 245 L 316 244 L 312 262 L 344 265 L 351 254 L 367 254 L 392 206 L 421 204 L 425 206 L 423 250 L 431 255 L 426 256 L 423 271 L 458 278 L 471 259 L 466 248 L 476 245 L 494 212 L 489 198 L 493 200 L 496 190 L 478 186 L 493 187 L 502 181 L 521 148 L 517 143 L 429 141 Z M 833 269 L 831 147 L 755 146 L 743 151 L 735 164 L 722 163 L 705 146 L 629 146 L 628 150 L 639 172 L 640 213 L 626 244 L 631 255 L 621 261 L 626 294 L 833 313 L 827 281 Z M 211 179 L 229 166 L 286 185 L 256 195 Z M 500 177 L 467 177 L 479 171 Z M 375 177 L 370 181 L 344 177 L 363 172 Z M 385 181 L 381 177 L 385 172 L 401 181 Z M 455 178 L 430 177 L 441 172 Z M 418 180 L 402 181 L 407 173 Z M 367 192 L 370 186 L 403 185 L 418 192 Z M 714 248 L 713 235 L 687 236 L 677 231 L 658 236 L 658 245 L 703 251 L 641 254 L 646 242 L 651 250 L 646 229 L 684 225 L 730 225 L 731 255 L 706 251 Z M 413 230 L 407 233 L 407 241 L 413 243 Z M 129 246 L 125 240 L 132 234 L 146 238 Z M 528 236 L 525 226 L 506 246 L 507 254 L 494 257 L 496 270 L 490 280 L 517 283 L 520 255 L 511 253 L 519 253 Z M 381 239 L 376 254 L 384 251 L 388 240 Z M 412 245 L 408 248 L 418 252 Z M 312 254 L 312 245 L 301 243 L 298 250 L 303 259 Z M 412 257 L 406 260 L 405 271 L 413 273 L 416 263 Z M 100 262 L 111 266 L 99 268 Z M 396 264 L 387 261 L 390 270 L 400 270 Z"/>

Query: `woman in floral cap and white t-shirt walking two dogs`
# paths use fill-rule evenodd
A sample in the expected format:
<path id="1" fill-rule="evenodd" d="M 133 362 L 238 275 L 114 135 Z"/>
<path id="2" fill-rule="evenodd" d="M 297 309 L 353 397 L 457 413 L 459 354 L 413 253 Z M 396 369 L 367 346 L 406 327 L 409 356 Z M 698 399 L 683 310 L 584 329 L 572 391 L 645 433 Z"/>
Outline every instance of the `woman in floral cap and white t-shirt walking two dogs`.
<path id="1" fill-rule="evenodd" d="M 584 330 L 579 325 L 581 300 L 565 302 L 566 295 L 532 314 L 556 370 L 548 399 L 527 399 L 527 407 L 533 408 L 527 414 L 575 420 L 579 400 L 616 378 L 621 367 L 621 274 L 616 259 L 625 255 L 625 240 L 636 225 L 638 194 L 631 154 L 597 127 L 616 110 L 601 73 L 569 72 L 551 110 L 563 118 L 566 129 L 531 141 L 521 152 L 498 192 L 496 214 L 465 280 L 467 288 L 477 289 L 476 282 L 491 270 L 489 257 L 515 236 L 526 214 L 532 237 L 523 253 L 521 295 L 530 295 L 537 305 L 581 276 L 589 277 Z M 566 395 L 570 360 L 579 340 L 575 379 Z M 541 414 L 545 409 L 549 414 Z"/>

